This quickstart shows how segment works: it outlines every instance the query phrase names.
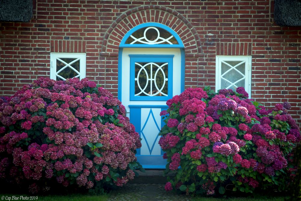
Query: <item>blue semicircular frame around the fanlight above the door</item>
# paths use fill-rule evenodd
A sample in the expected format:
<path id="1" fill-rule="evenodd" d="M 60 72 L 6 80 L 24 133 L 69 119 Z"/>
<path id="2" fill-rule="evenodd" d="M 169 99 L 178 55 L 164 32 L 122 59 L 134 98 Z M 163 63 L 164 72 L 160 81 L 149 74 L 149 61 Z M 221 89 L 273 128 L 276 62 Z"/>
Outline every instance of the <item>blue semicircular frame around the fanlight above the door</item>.
<path id="1" fill-rule="evenodd" d="M 154 44 L 154 45 L 148 45 L 148 44 L 125 44 L 126 40 L 130 37 L 130 35 L 132 35 L 132 33 L 134 33 L 135 31 L 142 29 L 144 27 L 159 27 L 161 29 L 164 29 L 166 31 L 168 31 L 172 36 L 175 37 L 175 39 L 177 40 L 178 44 L 174 44 L 174 45 L 170 45 L 170 44 Z M 178 36 L 178 34 L 172 30 L 171 28 L 167 27 L 164 24 L 160 24 L 160 23 L 156 23 L 156 22 L 148 22 L 148 23 L 144 23 L 144 24 L 139 24 L 136 27 L 132 28 L 131 30 L 129 30 L 128 33 L 126 33 L 126 35 L 123 37 L 123 39 L 120 42 L 119 47 L 124 48 L 124 47 L 132 47 L 132 48 L 145 48 L 145 47 L 149 47 L 149 48 L 184 48 L 184 44 L 181 40 L 181 38 Z"/>

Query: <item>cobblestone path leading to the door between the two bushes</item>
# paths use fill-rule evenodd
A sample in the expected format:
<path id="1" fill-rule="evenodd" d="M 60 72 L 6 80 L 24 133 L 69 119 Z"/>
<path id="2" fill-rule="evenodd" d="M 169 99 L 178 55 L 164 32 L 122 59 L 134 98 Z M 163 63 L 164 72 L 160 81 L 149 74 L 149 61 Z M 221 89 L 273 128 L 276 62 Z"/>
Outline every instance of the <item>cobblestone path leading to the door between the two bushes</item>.
<path id="1" fill-rule="evenodd" d="M 110 194 L 107 201 L 190 201 L 191 197 L 166 192 L 164 184 L 126 184 Z"/>

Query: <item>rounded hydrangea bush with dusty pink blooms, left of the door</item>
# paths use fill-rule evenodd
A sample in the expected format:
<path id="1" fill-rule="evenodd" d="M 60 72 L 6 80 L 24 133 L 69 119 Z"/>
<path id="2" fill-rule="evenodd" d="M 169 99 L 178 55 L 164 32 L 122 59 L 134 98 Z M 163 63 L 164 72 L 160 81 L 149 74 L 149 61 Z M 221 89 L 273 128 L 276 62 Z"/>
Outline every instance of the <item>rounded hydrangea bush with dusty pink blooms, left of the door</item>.
<path id="1" fill-rule="evenodd" d="M 0 178 L 67 187 L 123 186 L 135 176 L 139 134 L 113 95 L 88 79 L 40 78 L 0 98 Z"/>

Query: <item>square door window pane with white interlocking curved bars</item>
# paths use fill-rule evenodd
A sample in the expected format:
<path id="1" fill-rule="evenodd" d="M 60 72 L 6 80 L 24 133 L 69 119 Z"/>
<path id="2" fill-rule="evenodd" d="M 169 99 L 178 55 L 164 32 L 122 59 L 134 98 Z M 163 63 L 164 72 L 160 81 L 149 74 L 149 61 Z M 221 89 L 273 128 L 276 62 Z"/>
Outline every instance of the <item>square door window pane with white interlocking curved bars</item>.
<path id="1" fill-rule="evenodd" d="M 135 62 L 135 96 L 168 96 L 168 63 Z"/>

